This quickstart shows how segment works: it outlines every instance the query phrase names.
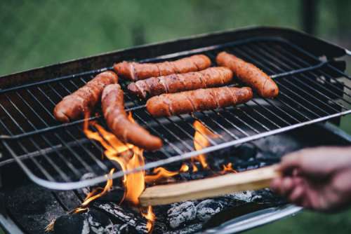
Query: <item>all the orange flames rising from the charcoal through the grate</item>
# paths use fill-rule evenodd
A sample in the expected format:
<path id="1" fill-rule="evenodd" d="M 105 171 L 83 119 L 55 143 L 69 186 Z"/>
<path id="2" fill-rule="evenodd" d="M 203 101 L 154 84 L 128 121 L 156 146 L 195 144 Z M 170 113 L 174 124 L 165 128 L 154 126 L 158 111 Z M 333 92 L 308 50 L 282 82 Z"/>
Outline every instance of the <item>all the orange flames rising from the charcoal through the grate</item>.
<path id="1" fill-rule="evenodd" d="M 128 113 L 129 121 L 134 122 L 131 112 Z M 133 144 L 125 144 L 121 142 L 115 135 L 111 132 L 108 132 L 101 125 L 95 121 L 91 121 L 91 126 L 93 126 L 96 131 L 89 129 L 88 118 L 84 121 L 84 133 L 89 139 L 94 139 L 104 147 L 104 155 L 110 159 L 117 162 L 121 167 L 121 170 L 130 171 L 136 167 L 144 167 L 145 160 L 143 156 L 143 149 L 134 146 Z M 206 126 L 202 125 L 199 121 L 194 122 L 194 128 L 196 130 L 194 135 L 194 148 L 196 150 L 204 149 L 210 145 L 208 138 L 216 138 L 218 135 L 208 130 Z M 192 172 L 197 172 L 199 168 L 195 165 L 194 161 L 199 161 L 201 167 L 209 168 L 208 163 L 206 162 L 206 156 L 201 154 L 195 158 L 192 158 Z M 225 171 L 232 170 L 232 165 L 227 165 L 224 167 Z M 230 169 L 231 168 L 231 169 Z M 140 170 L 131 174 L 124 174 L 123 184 L 124 184 L 124 198 L 121 200 L 123 202 L 126 200 L 131 203 L 131 205 L 139 205 L 139 196 L 143 193 L 145 189 L 145 183 L 154 183 L 160 179 L 173 177 L 181 172 L 187 172 L 190 170 L 190 167 L 186 164 L 183 164 L 180 167 L 180 170 L 176 172 L 168 171 L 164 167 L 157 167 L 152 171 L 152 174 L 145 175 L 145 170 Z M 233 170 L 234 171 L 234 170 Z M 81 204 L 81 207 L 77 208 L 75 212 L 81 212 L 86 210 L 89 202 L 100 198 L 102 195 L 107 193 L 112 187 L 111 175 L 113 174 L 114 169 L 109 173 L 109 178 L 107 179 L 107 184 L 105 188 L 95 188 L 91 193 L 87 195 L 84 202 Z M 150 232 L 153 227 L 154 220 L 156 217 L 152 212 L 152 207 L 142 207 L 140 208 L 140 213 L 147 219 L 147 230 Z"/>

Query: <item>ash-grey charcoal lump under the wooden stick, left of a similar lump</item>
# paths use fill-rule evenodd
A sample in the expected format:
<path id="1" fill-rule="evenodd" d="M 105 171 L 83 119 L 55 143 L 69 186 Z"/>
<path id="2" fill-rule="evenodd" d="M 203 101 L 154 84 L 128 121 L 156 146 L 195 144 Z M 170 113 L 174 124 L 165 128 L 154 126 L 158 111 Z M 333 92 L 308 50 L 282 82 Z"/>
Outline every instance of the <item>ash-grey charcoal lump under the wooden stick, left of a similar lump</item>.
<path id="1" fill-rule="evenodd" d="M 168 224 L 171 228 L 178 228 L 180 225 L 196 218 L 196 207 L 194 202 L 183 202 L 168 209 Z"/>

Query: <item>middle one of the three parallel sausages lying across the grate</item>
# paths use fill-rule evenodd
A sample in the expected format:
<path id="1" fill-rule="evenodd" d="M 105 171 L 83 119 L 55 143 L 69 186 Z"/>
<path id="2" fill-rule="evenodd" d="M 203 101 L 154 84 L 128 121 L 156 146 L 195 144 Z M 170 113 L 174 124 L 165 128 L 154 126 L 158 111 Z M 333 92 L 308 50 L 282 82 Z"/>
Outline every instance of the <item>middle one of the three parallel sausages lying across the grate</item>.
<path id="1" fill-rule="evenodd" d="M 146 98 L 162 93 L 225 85 L 232 81 L 232 77 L 232 71 L 226 67 L 210 67 L 202 71 L 151 77 L 143 81 L 136 81 L 128 85 L 128 90 L 139 97 Z"/>

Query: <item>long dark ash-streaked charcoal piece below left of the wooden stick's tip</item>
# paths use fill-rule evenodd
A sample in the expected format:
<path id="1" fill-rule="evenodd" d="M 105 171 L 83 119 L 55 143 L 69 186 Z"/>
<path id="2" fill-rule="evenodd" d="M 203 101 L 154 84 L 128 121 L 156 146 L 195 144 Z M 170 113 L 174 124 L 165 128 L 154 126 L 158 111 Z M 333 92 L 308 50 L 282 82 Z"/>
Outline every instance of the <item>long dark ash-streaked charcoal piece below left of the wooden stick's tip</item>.
<path id="1" fill-rule="evenodd" d="M 135 229 L 136 233 L 147 233 L 146 221 L 137 212 L 121 207 L 114 202 L 95 202 L 93 206 L 96 209 L 107 212 L 112 219 L 117 220 L 119 223 L 128 224 L 129 228 Z"/>

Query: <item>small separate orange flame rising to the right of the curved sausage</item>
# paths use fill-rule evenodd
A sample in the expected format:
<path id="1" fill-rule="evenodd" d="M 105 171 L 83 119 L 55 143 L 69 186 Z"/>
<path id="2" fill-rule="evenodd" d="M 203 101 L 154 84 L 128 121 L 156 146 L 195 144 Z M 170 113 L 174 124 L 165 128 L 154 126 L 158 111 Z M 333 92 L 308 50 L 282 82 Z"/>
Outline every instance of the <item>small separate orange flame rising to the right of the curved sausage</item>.
<path id="1" fill-rule="evenodd" d="M 195 135 L 194 135 L 194 148 L 199 151 L 201 149 L 206 148 L 207 146 L 210 146 L 210 142 L 208 141 L 208 138 L 217 138 L 218 135 L 214 134 L 213 132 L 211 132 L 211 130 L 209 130 L 208 128 L 206 128 L 205 125 L 203 125 L 201 122 L 199 121 L 195 121 L 194 122 L 194 128 L 196 130 Z M 205 154 L 200 154 L 197 157 L 192 158 L 192 162 L 194 162 L 194 160 L 199 161 L 199 163 L 201 164 L 201 166 L 204 169 L 208 168 L 208 163 L 206 161 L 206 155 Z M 193 172 L 197 172 L 197 167 L 194 166 L 193 164 Z"/>

